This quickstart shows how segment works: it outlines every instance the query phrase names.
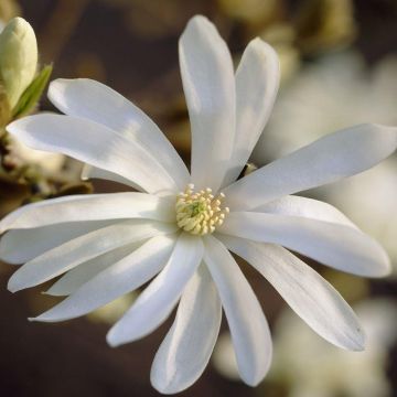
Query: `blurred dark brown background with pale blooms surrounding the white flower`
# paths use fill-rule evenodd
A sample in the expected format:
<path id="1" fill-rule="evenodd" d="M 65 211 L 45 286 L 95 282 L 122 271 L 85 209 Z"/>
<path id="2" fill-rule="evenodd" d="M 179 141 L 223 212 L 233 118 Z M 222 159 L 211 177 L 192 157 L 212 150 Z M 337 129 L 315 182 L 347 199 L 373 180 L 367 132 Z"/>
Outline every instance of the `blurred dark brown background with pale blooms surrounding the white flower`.
<path id="1" fill-rule="evenodd" d="M 397 126 L 396 0 L 0 0 L 1 24 L 23 15 L 34 28 L 40 63 L 53 63 L 52 78 L 90 77 L 111 86 L 153 118 L 186 162 L 190 130 L 178 39 L 196 13 L 215 22 L 236 63 L 255 36 L 279 53 L 280 94 L 253 154 L 254 167 L 351 125 Z M 41 110 L 55 109 L 43 98 Z M 43 160 L 19 147 L 13 151 L 20 161 L 51 175 L 49 180 L 61 186 L 56 194 L 125 189 L 98 181 L 82 184 L 81 164 L 71 160 Z M 1 215 L 36 200 L 37 186 L 32 186 L 0 175 Z M 397 396 L 397 155 L 305 195 L 345 212 L 391 257 L 394 273 L 382 280 L 310 262 L 355 308 L 368 335 L 367 351 L 347 353 L 321 340 L 266 280 L 242 264 L 271 325 L 271 372 L 257 388 L 240 383 L 223 324 L 212 363 L 182 396 Z M 116 350 L 107 346 L 105 335 L 133 296 L 88 318 L 29 323 L 28 316 L 55 299 L 40 293 L 45 288 L 12 296 L 7 280 L 13 270 L 0 264 L 1 396 L 159 395 L 150 386 L 149 372 L 171 320 L 142 341 Z"/>

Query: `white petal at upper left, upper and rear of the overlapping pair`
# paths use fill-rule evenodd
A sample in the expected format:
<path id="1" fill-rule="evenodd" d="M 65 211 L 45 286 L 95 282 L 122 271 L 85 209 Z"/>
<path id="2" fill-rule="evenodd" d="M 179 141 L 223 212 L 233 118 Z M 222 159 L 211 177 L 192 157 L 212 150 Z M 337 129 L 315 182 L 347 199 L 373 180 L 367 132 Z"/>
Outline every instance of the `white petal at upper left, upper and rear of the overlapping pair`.
<path id="1" fill-rule="evenodd" d="M 110 87 L 88 78 L 58 78 L 51 83 L 49 98 L 64 114 L 101 124 L 155 152 L 180 190 L 189 183 L 186 165 L 159 127 Z"/>

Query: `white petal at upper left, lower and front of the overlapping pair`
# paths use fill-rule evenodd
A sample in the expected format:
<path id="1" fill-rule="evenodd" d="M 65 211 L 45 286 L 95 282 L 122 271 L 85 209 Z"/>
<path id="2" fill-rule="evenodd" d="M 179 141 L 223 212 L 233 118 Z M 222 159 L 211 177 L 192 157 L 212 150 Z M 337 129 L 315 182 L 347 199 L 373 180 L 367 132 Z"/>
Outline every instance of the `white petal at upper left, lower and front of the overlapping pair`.
<path id="1" fill-rule="evenodd" d="M 180 189 L 165 169 L 133 140 L 94 121 L 60 115 L 35 115 L 10 124 L 7 130 L 24 144 L 61 152 L 117 173 L 149 193 Z"/>

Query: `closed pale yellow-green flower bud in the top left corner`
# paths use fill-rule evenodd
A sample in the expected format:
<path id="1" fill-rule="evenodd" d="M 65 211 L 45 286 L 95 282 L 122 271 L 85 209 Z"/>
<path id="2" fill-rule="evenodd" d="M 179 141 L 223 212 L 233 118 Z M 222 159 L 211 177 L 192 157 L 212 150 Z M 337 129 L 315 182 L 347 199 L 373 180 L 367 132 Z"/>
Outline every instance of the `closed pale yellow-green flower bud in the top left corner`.
<path id="1" fill-rule="evenodd" d="M 11 109 L 32 83 L 36 67 L 34 31 L 23 18 L 14 18 L 0 33 L 0 84 Z"/>

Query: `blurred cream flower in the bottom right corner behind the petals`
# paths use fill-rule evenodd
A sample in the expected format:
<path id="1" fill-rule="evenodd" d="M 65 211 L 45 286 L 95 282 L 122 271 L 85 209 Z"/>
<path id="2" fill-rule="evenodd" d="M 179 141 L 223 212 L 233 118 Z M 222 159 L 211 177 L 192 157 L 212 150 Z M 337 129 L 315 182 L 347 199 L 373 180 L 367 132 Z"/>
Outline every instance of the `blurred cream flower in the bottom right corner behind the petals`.
<path id="1" fill-rule="evenodd" d="M 279 388 L 288 389 L 289 397 L 393 396 L 386 369 L 387 352 L 397 340 L 397 304 L 387 299 L 364 300 L 354 311 L 366 332 L 364 352 L 324 343 L 291 310 L 283 310 L 275 324 L 275 357 L 267 379 L 272 393 Z M 238 379 L 229 333 L 219 337 L 213 362 L 225 377 Z M 265 383 L 262 388 L 266 391 Z"/>

